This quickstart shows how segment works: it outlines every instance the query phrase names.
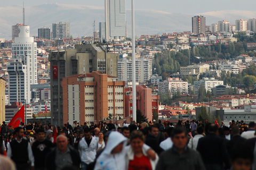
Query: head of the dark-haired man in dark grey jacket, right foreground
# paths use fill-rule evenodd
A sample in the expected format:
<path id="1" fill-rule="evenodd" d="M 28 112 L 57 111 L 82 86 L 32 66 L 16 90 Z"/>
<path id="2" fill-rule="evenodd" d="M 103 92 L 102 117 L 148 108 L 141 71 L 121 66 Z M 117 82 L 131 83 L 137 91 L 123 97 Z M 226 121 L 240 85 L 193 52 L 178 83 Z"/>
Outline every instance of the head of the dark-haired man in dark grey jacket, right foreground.
<path id="1" fill-rule="evenodd" d="M 172 131 L 171 139 L 173 146 L 178 151 L 183 151 L 188 142 L 187 130 L 183 128 L 174 128 Z"/>

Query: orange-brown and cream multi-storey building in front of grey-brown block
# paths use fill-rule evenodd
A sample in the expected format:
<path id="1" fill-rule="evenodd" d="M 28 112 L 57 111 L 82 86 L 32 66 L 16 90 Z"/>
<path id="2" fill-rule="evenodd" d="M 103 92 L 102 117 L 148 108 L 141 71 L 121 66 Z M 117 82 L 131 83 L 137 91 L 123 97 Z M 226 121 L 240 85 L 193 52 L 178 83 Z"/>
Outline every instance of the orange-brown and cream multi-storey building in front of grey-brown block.
<path id="1" fill-rule="evenodd" d="M 98 71 L 63 78 L 63 122 L 125 117 L 124 81 Z"/>

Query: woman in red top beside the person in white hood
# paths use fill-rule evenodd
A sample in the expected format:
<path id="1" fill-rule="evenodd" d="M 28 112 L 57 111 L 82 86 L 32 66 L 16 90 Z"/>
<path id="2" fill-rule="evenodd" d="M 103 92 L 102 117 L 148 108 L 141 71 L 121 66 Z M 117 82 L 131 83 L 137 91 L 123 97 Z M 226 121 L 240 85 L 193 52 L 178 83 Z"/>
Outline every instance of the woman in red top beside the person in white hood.
<path id="1" fill-rule="evenodd" d="M 130 144 L 134 154 L 133 159 L 129 160 L 128 170 L 153 170 L 150 159 L 143 153 L 142 147 L 145 136 L 141 131 L 133 131 L 130 135 Z"/>

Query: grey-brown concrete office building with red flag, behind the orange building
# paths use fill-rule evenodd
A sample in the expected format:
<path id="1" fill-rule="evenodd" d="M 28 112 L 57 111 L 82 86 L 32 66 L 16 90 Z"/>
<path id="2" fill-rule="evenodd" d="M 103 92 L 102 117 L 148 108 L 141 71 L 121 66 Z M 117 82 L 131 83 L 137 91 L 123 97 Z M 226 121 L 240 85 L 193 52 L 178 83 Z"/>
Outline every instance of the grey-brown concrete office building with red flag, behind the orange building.
<path id="1" fill-rule="evenodd" d="M 50 52 L 52 124 L 63 124 L 62 79 L 92 71 L 117 77 L 118 56 L 118 53 L 108 53 L 99 44 L 75 45 L 75 49 L 59 49 Z"/>

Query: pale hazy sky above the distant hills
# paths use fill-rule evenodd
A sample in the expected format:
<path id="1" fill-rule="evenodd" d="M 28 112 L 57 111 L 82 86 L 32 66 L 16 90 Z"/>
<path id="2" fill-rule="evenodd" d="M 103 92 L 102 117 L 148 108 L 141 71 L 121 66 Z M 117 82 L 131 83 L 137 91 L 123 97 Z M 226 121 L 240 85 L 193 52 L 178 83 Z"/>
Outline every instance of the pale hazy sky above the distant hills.
<path id="1" fill-rule="evenodd" d="M 199 14 L 219 10 L 255 11 L 255 0 L 134 0 L 135 9 L 159 10 L 165 12 Z M 77 4 L 90 6 L 104 6 L 104 0 L 0 0 L 0 7 L 25 3 L 25 6 L 35 6 L 46 3 Z M 243 4 L 243 5 L 242 5 Z M 126 0 L 126 8 L 131 8 L 131 0 Z"/>

